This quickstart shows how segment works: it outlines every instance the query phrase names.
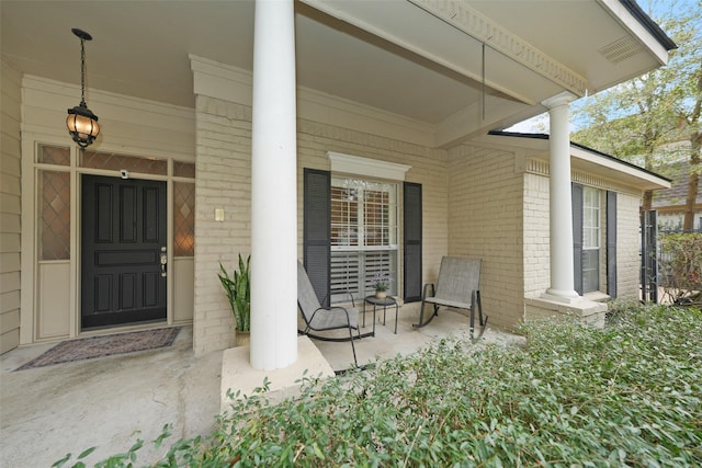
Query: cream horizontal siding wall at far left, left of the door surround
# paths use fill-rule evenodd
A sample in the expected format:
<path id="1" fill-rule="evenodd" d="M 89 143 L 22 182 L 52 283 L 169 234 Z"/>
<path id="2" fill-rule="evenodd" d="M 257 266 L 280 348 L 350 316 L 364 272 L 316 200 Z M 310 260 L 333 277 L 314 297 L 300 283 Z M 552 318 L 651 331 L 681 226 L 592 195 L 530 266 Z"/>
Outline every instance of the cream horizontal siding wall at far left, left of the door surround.
<path id="1" fill-rule="evenodd" d="M 20 344 L 22 77 L 0 64 L 0 354 Z"/>

